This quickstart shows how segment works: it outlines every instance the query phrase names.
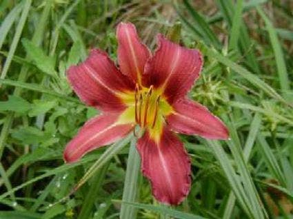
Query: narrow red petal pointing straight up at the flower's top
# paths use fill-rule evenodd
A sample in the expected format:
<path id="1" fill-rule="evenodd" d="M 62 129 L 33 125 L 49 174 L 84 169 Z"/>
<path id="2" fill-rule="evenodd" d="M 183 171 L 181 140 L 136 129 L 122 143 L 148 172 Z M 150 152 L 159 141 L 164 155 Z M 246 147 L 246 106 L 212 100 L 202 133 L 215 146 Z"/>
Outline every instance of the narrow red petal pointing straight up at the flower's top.
<path id="1" fill-rule="evenodd" d="M 119 23 L 117 27 L 118 62 L 123 74 L 141 84 L 141 74 L 150 51 L 141 43 L 132 23 Z"/>

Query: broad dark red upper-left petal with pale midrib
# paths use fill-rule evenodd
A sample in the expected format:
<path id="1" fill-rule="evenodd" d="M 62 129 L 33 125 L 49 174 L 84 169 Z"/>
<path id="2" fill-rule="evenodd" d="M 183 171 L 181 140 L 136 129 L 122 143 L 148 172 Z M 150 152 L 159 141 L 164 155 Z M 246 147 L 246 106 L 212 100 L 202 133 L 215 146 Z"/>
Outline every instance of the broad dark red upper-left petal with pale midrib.
<path id="1" fill-rule="evenodd" d="M 100 50 L 92 50 L 83 63 L 71 66 L 68 80 L 83 102 L 110 112 L 124 110 L 125 104 L 119 94 L 135 87 Z"/>

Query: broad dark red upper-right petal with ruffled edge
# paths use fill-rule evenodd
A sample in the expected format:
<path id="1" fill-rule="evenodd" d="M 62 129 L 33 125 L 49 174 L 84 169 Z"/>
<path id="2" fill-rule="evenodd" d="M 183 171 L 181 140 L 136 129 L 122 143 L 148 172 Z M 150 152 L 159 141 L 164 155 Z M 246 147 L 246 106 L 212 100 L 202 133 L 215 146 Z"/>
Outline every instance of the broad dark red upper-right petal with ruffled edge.
<path id="1" fill-rule="evenodd" d="M 159 46 L 145 64 L 143 85 L 161 87 L 169 103 L 173 103 L 192 87 L 199 77 L 203 58 L 198 50 L 183 48 L 158 36 Z"/>

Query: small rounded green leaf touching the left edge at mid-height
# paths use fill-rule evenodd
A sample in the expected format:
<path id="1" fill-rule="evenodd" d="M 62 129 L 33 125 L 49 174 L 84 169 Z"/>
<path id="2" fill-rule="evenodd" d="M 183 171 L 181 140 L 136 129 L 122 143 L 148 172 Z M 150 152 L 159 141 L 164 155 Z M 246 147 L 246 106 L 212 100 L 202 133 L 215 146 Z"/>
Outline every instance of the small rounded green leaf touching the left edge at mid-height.
<path id="1" fill-rule="evenodd" d="M 8 96 L 8 101 L 0 102 L 0 111 L 11 111 L 25 114 L 30 110 L 31 104 L 19 96 Z"/>

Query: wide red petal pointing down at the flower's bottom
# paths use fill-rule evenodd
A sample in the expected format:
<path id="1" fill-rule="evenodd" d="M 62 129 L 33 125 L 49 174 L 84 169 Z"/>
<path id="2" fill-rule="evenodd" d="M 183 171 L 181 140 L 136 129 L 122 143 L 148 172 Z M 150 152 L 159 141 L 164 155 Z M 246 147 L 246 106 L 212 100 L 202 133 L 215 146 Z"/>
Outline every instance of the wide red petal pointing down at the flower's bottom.
<path id="1" fill-rule="evenodd" d="M 164 128 L 156 142 L 145 132 L 137 142 L 143 175 L 152 183 L 152 193 L 160 202 L 179 205 L 190 190 L 190 159 L 183 143 Z"/>

